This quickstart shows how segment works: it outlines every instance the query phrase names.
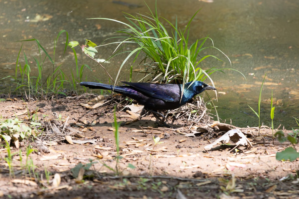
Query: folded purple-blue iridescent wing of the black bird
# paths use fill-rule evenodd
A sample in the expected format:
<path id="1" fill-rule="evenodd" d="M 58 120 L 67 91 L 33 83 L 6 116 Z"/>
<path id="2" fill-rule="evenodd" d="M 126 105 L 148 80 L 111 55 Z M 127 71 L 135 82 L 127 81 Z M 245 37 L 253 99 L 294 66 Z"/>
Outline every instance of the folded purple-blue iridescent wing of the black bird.
<path id="1" fill-rule="evenodd" d="M 144 82 L 126 82 L 122 83 L 132 86 L 135 90 L 144 95 L 161 99 L 168 102 L 176 102 L 181 97 L 181 87 L 178 84 L 150 84 Z"/>

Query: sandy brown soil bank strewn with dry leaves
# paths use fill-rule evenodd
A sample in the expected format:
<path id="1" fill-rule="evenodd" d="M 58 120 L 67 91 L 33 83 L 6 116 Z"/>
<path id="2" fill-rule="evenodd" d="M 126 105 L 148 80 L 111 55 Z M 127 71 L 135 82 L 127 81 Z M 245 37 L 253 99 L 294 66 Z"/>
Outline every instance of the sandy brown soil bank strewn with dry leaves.
<path id="1" fill-rule="evenodd" d="M 236 150 L 231 142 L 205 151 L 204 147 L 224 132 L 200 123 L 190 129 L 190 123 L 172 118 L 168 120 L 169 125 L 176 129 L 161 128 L 151 115 L 125 124 L 132 120 L 121 117 L 129 115 L 125 110 L 116 112 L 117 120 L 122 121 L 119 145 L 123 157 L 119 159 L 119 175 L 116 175 L 113 108 L 104 105 L 86 109 L 80 105 L 86 101 L 86 98 L 73 97 L 0 102 L 2 119 L 15 118 L 16 113 L 25 110 L 26 114 L 18 118 L 29 121 L 37 110 L 37 120 L 45 127 L 39 139 L 20 143 L 23 164 L 26 147 L 30 144 L 36 149 L 29 157 L 39 176 L 29 175 L 24 165 L 20 165 L 20 149 L 12 146 L 12 153 L 16 153 L 13 156 L 15 176 L 9 177 L 8 164 L 4 161 L 7 151 L 1 149 L 0 194 L 4 198 L 299 198 L 298 182 L 294 182 L 295 177 L 290 178 L 298 170 L 298 160 L 275 159 L 275 154 L 288 147 L 288 143 L 279 144 L 275 140 L 273 144 L 270 129 L 262 128 L 261 136 L 257 128 L 241 129 L 252 148 L 238 146 Z M 195 137 L 184 136 L 196 127 L 209 130 L 198 132 Z M 74 142 L 86 143 L 70 144 L 66 135 Z M 156 146 L 153 136 L 160 137 Z M 94 163 L 85 172 L 83 182 L 72 177 L 72 168 L 90 161 Z M 48 181 L 45 169 L 51 172 Z M 57 187 L 53 185 L 55 173 L 61 178 Z M 30 182 L 16 181 L 25 176 Z M 286 181 L 279 181 L 288 176 Z"/>

